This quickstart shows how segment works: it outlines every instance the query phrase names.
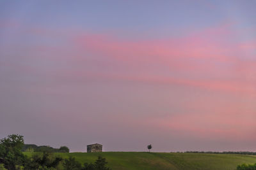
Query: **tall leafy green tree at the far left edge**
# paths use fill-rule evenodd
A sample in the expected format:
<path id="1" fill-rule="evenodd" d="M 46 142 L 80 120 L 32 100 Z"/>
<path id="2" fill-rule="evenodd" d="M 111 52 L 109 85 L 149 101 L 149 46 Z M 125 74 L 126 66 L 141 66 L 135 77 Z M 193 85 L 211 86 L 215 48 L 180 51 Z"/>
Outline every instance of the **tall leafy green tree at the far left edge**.
<path id="1" fill-rule="evenodd" d="M 24 155 L 21 152 L 24 145 L 23 136 L 18 134 L 9 135 L 0 141 L 0 159 L 6 169 L 16 169 L 17 166 L 22 166 Z"/>

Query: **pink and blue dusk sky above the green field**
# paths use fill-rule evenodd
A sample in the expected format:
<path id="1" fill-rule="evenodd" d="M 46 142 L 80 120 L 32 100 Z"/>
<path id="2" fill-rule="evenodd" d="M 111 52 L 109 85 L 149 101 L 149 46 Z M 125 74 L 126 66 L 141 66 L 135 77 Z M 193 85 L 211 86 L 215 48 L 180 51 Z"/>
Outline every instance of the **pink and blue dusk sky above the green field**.
<path id="1" fill-rule="evenodd" d="M 0 1 L 0 138 L 256 152 L 256 1 Z"/>

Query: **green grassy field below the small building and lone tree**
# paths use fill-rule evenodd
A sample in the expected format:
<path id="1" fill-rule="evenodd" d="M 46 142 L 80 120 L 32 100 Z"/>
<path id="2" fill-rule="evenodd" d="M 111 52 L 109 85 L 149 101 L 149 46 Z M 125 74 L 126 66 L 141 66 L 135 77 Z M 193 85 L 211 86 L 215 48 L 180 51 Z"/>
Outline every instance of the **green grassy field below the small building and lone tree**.
<path id="1" fill-rule="evenodd" d="M 31 153 L 26 153 L 31 155 Z M 112 169 L 236 169 L 239 164 L 254 164 L 256 156 L 210 153 L 56 153 L 63 158 L 76 157 L 81 162 L 94 162 L 99 155 Z"/>

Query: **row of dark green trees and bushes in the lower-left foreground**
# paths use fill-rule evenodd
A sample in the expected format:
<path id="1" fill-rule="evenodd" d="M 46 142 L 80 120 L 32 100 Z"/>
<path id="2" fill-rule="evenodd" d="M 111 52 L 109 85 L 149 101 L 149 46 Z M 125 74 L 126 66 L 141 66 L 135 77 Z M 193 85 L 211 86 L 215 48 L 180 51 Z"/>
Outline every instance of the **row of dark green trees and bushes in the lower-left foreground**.
<path id="1" fill-rule="evenodd" d="M 109 170 L 105 158 L 98 157 L 93 163 L 84 163 L 83 166 L 74 157 L 63 159 L 52 152 L 34 152 L 31 157 L 22 153 L 24 148 L 23 136 L 9 135 L 0 140 L 0 170 Z M 67 148 L 62 148 L 67 150 Z M 59 149 L 61 150 L 61 148 Z M 69 151 L 69 150 L 68 150 Z"/>

